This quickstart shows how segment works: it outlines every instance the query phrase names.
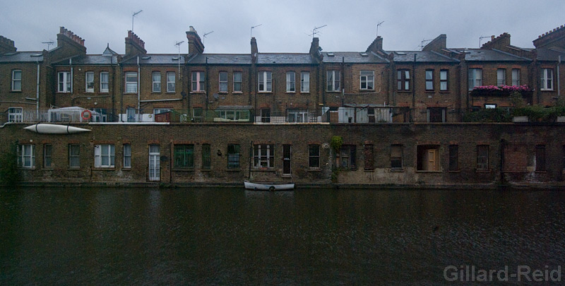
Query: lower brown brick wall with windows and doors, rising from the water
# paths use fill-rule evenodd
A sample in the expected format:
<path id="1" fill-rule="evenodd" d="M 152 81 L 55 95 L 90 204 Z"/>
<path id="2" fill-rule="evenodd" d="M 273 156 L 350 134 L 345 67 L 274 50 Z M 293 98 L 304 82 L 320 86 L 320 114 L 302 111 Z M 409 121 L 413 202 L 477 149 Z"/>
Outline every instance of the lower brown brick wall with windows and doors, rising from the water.
<path id="1" fill-rule="evenodd" d="M 44 134 L 7 124 L 26 186 L 563 187 L 565 125 L 73 124 Z"/>

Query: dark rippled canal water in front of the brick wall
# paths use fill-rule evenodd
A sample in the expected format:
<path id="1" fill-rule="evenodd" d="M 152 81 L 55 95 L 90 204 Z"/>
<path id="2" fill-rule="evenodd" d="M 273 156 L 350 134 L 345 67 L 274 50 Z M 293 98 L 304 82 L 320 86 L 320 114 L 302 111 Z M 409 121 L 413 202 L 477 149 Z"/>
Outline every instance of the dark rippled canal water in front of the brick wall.
<path id="1" fill-rule="evenodd" d="M 0 285 L 436 285 L 564 259 L 563 191 L 0 191 Z"/>

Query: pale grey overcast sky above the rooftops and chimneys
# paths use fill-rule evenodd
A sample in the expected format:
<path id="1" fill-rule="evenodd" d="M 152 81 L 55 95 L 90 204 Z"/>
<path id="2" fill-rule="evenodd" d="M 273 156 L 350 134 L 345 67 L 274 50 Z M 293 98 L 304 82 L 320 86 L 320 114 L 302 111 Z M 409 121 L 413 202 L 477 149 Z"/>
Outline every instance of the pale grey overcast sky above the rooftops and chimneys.
<path id="1" fill-rule="evenodd" d="M 0 35 L 13 40 L 18 51 L 57 44 L 64 26 L 85 40 L 88 54 L 102 54 L 107 44 L 124 54 L 137 11 L 142 12 L 134 18 L 133 32 L 150 54 L 174 54 L 179 47 L 186 53 L 189 26 L 206 53 L 249 54 L 256 25 L 259 52 L 307 53 L 312 30 L 321 26 L 316 37 L 324 51 L 362 52 L 381 22 L 383 49 L 397 51 L 420 50 L 422 41 L 440 34 L 447 35 L 448 47 L 477 48 L 503 32 L 511 35 L 511 44 L 533 48 L 538 35 L 565 24 L 564 0 L 0 0 L 0 7 Z"/>

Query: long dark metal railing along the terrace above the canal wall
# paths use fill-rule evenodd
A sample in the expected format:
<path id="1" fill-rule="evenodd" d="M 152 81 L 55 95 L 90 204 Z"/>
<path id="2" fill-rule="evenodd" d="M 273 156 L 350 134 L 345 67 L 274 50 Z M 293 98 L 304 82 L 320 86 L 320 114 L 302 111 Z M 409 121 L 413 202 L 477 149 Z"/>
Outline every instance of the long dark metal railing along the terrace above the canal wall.
<path id="1" fill-rule="evenodd" d="M 11 107 L 0 112 L 0 124 L 6 122 L 179 122 L 198 123 L 233 123 L 249 122 L 256 124 L 386 124 L 386 123 L 453 123 L 453 122 L 510 122 L 520 110 L 512 108 L 493 109 L 456 109 L 447 107 L 323 107 L 319 109 L 160 109 L 159 113 L 139 113 L 128 109 L 124 114 L 114 114 L 106 109 L 84 109 L 64 107 L 51 109 L 24 109 Z"/>

